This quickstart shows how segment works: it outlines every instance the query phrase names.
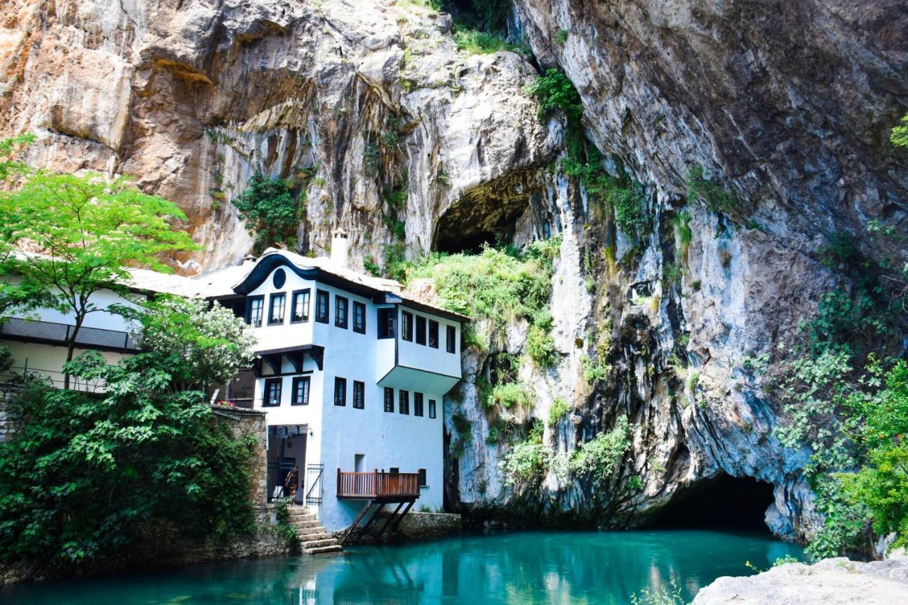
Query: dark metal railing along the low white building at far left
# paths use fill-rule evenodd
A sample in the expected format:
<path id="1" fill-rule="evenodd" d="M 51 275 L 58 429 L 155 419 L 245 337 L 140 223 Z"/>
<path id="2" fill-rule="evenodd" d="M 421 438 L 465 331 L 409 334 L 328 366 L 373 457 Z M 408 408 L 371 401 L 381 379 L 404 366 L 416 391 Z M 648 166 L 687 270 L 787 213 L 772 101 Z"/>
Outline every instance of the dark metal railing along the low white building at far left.
<path id="1" fill-rule="evenodd" d="M 25 342 L 64 344 L 72 337 L 75 326 L 69 323 L 26 320 L 21 317 L 7 317 L 0 323 L 0 338 Z M 75 335 L 75 344 L 80 348 L 111 352 L 139 352 L 136 334 L 120 330 L 106 330 L 82 326 Z"/>

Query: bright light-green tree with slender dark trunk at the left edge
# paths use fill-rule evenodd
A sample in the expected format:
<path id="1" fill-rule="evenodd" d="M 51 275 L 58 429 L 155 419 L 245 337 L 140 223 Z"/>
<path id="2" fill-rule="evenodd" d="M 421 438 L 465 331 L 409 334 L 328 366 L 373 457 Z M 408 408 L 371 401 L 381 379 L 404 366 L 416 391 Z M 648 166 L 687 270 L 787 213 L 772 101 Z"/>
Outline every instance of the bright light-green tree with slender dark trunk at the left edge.
<path id="1" fill-rule="evenodd" d="M 0 218 L 0 239 L 40 251 L 8 255 L 4 273 L 21 276 L 20 293 L 44 293 L 51 306 L 73 313 L 67 362 L 86 315 L 101 310 L 95 293 L 127 295 L 131 267 L 169 272 L 160 254 L 198 248 L 173 230 L 173 221 L 186 219 L 176 204 L 145 195 L 125 177 L 36 171 L 21 188 L 0 195 Z M 69 381 L 66 375 L 66 387 Z"/>

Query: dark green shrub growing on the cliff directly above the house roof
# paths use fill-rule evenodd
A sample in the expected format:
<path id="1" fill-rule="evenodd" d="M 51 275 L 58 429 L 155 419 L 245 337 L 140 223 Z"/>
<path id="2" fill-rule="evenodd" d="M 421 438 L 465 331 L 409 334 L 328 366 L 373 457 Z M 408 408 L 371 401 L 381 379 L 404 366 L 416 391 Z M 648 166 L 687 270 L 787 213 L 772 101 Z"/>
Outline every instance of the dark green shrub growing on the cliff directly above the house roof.
<path id="1" fill-rule="evenodd" d="M 300 209 L 291 192 L 289 181 L 272 179 L 256 171 L 246 190 L 233 202 L 246 228 L 255 232 L 256 252 L 261 253 L 272 244 L 288 247 L 296 244 Z"/>

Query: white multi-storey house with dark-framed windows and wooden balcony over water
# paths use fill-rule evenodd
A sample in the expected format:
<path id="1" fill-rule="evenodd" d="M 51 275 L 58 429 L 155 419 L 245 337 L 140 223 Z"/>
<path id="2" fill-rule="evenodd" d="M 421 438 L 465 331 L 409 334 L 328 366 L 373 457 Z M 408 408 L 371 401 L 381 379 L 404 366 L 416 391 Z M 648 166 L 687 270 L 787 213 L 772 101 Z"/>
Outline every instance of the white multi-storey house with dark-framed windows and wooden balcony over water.
<path id="1" fill-rule="evenodd" d="M 351 271 L 346 248 L 335 233 L 331 260 L 269 250 L 200 278 L 253 326 L 252 407 L 267 412 L 269 494 L 296 467 L 297 501 L 329 531 L 370 501 L 442 508 L 441 402 L 460 380 L 468 319 Z M 229 290 L 219 286 L 230 278 Z"/>

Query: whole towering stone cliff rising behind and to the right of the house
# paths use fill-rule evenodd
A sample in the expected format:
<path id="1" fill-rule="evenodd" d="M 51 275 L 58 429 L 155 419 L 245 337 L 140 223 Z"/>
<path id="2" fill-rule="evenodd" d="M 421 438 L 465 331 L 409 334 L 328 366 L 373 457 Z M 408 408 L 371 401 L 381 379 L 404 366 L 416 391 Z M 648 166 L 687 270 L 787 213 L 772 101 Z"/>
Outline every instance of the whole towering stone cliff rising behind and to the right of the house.
<path id="1" fill-rule="evenodd" d="M 252 248 L 231 200 L 256 169 L 293 179 L 302 252 L 351 233 L 353 263 L 459 252 L 561 234 L 551 311 L 558 361 L 520 362 L 553 451 L 630 421 L 630 452 L 605 483 L 550 470 L 515 491 L 476 378 L 507 342 L 465 353 L 446 402 L 449 505 L 477 515 L 635 525 L 726 477 L 773 492 L 765 521 L 804 539 L 819 521 L 772 431 L 779 406 L 748 360 L 798 338 L 844 275 L 817 249 L 871 221 L 908 231 L 904 152 L 888 134 L 908 108 L 908 8 L 854 3 L 517 0 L 512 35 L 533 57 L 459 51 L 451 19 L 417 0 L 12 0 L 0 7 L 5 134 L 39 134 L 30 160 L 130 174 L 179 203 L 205 250 L 184 273 Z M 607 169 L 645 192 L 645 233 L 558 168 L 566 122 L 528 93 L 556 67 L 576 86 Z M 734 204 L 688 199 L 687 180 Z M 679 237 L 679 223 L 690 229 Z M 590 361 L 603 372 L 585 372 Z M 492 440 L 489 440 L 492 441 Z M 769 488 L 769 486 L 772 486 Z"/>

